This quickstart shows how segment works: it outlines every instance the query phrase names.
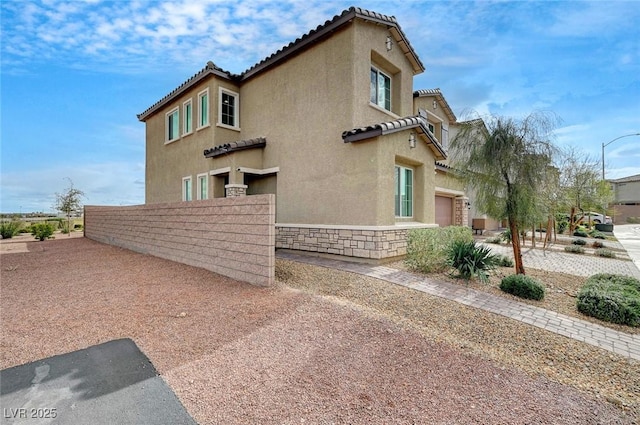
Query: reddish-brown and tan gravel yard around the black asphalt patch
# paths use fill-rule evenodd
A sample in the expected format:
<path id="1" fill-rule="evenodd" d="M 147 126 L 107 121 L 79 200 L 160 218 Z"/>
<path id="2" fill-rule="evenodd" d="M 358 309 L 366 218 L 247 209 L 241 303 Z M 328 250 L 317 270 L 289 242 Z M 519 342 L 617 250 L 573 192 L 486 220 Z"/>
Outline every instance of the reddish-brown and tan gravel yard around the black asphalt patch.
<path id="1" fill-rule="evenodd" d="M 278 260 L 257 288 L 84 238 L 1 245 L 0 368 L 131 338 L 202 424 L 640 419 L 640 362 L 376 279 Z"/>

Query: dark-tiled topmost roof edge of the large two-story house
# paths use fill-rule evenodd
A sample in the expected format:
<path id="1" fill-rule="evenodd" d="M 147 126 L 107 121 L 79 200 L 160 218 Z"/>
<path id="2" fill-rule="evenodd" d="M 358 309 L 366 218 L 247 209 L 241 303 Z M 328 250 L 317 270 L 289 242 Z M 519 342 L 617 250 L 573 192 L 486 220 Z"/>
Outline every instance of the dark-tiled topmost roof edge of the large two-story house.
<path id="1" fill-rule="evenodd" d="M 411 63 L 414 74 L 419 74 L 424 71 L 424 65 L 420 61 L 420 58 L 418 58 L 415 50 L 413 50 L 411 43 L 409 43 L 409 40 L 400 28 L 400 25 L 398 24 L 398 21 L 394 16 L 382 15 L 380 13 L 372 12 L 359 7 L 350 7 L 349 9 L 344 10 L 340 15 L 334 16 L 330 21 L 326 21 L 324 24 L 319 25 L 316 29 L 311 30 L 300 38 L 297 38 L 295 41 L 284 46 L 282 49 L 278 50 L 266 59 L 261 60 L 251 68 L 244 71 L 242 74 L 231 74 L 230 72 L 217 67 L 213 62 L 207 62 L 207 65 L 204 69 L 182 83 L 177 89 L 173 90 L 171 93 L 163 97 L 160 101 L 153 104 L 146 111 L 138 114 L 138 120 L 145 121 L 149 116 L 153 115 L 171 100 L 181 95 L 187 89 L 191 88 L 193 85 L 202 81 L 209 75 L 216 75 L 218 77 L 237 83 L 248 80 L 249 78 L 258 75 L 259 73 L 284 62 L 295 54 L 303 52 L 317 42 L 330 36 L 341 26 L 350 23 L 355 18 L 379 25 L 385 25 L 391 32 L 400 50 L 402 50 L 406 58 Z"/>

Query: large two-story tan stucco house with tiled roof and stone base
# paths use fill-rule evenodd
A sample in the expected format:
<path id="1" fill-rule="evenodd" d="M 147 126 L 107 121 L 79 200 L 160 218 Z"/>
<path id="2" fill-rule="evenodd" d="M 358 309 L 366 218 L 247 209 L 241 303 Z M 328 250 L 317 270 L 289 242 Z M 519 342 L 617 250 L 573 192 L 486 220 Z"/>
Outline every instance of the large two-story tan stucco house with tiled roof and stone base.
<path id="1" fill-rule="evenodd" d="M 388 258 L 467 224 L 455 122 L 394 17 L 350 8 L 242 74 L 212 62 L 138 115 L 146 203 L 276 194 L 276 247 Z"/>

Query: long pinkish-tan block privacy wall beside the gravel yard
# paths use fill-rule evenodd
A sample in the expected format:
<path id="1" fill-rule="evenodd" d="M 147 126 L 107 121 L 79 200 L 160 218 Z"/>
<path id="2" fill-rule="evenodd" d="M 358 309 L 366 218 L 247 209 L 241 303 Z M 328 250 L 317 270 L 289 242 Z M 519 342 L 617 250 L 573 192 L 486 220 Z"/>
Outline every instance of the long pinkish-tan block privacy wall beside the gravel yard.
<path id="1" fill-rule="evenodd" d="M 275 281 L 275 195 L 85 206 L 85 237 L 254 285 Z"/>

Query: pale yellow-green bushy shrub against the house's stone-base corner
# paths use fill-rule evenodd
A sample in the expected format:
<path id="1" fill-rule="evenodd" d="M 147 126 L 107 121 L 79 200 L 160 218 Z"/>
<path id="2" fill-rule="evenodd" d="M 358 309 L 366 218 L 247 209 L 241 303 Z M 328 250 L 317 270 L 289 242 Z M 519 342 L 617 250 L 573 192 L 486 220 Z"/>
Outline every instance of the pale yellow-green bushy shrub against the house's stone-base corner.
<path id="1" fill-rule="evenodd" d="M 447 267 L 447 250 L 454 241 L 473 242 L 471 229 L 447 226 L 410 230 L 407 233 L 405 263 L 423 273 L 443 271 Z"/>

